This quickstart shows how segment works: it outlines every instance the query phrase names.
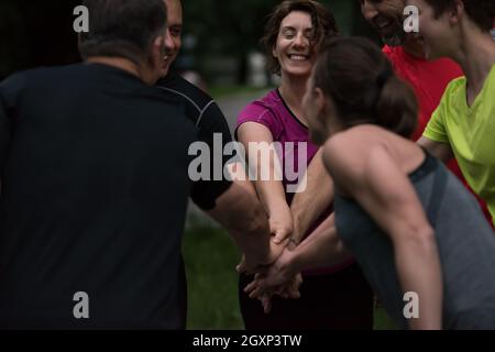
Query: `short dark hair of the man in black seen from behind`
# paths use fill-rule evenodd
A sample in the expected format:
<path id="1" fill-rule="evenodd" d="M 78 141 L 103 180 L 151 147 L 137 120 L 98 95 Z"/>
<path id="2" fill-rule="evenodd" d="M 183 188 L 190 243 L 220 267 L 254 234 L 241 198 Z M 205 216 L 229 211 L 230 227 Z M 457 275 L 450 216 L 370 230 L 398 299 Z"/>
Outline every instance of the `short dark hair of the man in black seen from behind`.
<path id="1" fill-rule="evenodd" d="M 79 51 L 91 56 L 145 59 L 156 36 L 165 30 L 163 0 L 85 0 L 89 10 L 89 33 L 81 33 Z"/>

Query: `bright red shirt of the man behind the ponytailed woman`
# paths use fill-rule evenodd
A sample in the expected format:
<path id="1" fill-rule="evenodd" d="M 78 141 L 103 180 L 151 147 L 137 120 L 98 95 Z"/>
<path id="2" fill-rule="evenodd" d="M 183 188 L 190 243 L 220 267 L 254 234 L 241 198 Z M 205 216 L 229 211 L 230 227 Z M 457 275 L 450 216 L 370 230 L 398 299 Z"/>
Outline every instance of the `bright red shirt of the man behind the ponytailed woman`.
<path id="1" fill-rule="evenodd" d="M 414 89 L 419 103 L 418 128 L 413 134 L 413 140 L 417 141 L 422 135 L 431 114 L 440 105 L 440 100 L 447 86 L 454 78 L 463 76 L 462 68 L 450 58 L 427 61 L 413 56 L 402 46 L 387 46 L 383 48 L 398 77 L 404 79 Z M 449 169 L 454 173 L 462 183 L 471 190 L 465 182 L 455 160 L 449 164 Z M 473 193 L 471 190 L 471 193 Z M 474 194 L 474 193 L 473 193 Z M 475 195 L 476 196 L 476 195 Z M 492 224 L 492 217 L 486 208 L 486 204 L 476 196 L 485 213 L 486 219 Z M 493 226 L 493 224 L 492 224 Z"/>

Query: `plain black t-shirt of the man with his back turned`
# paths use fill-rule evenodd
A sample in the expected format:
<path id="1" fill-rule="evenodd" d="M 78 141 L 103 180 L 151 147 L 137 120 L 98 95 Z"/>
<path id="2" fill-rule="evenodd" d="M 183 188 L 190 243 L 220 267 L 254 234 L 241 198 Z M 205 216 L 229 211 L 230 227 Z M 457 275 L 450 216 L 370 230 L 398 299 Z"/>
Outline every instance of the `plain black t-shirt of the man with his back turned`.
<path id="1" fill-rule="evenodd" d="M 0 328 L 184 328 L 184 109 L 97 64 L 0 85 Z"/>

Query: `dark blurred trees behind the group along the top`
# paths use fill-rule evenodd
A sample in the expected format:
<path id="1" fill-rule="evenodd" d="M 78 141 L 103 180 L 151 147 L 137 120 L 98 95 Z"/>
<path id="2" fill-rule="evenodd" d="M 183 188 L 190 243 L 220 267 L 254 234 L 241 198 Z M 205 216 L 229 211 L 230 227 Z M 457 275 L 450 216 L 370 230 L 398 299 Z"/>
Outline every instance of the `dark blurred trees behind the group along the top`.
<path id="1" fill-rule="evenodd" d="M 20 69 L 79 61 L 73 15 L 79 1 L 0 0 L 0 80 Z M 183 0 L 180 70 L 198 73 L 209 87 L 254 85 L 260 75 L 258 41 L 278 0 Z M 345 34 L 370 36 L 358 0 L 326 0 Z M 251 76 L 250 76 L 251 74 Z M 267 84 L 267 82 L 266 82 Z"/>

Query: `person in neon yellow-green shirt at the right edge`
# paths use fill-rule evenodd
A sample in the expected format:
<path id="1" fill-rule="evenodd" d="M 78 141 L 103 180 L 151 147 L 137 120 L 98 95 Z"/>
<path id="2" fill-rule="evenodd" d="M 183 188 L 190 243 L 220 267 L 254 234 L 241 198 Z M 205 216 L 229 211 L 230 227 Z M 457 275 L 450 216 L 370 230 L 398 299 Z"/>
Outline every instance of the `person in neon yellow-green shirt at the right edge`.
<path id="1" fill-rule="evenodd" d="M 455 156 L 494 221 L 495 1 L 408 0 L 408 4 L 419 10 L 427 57 L 450 57 L 465 74 L 448 86 L 418 143 L 443 162 Z"/>

